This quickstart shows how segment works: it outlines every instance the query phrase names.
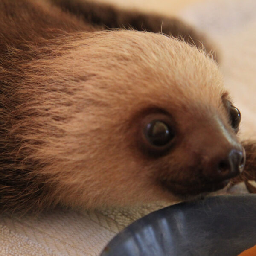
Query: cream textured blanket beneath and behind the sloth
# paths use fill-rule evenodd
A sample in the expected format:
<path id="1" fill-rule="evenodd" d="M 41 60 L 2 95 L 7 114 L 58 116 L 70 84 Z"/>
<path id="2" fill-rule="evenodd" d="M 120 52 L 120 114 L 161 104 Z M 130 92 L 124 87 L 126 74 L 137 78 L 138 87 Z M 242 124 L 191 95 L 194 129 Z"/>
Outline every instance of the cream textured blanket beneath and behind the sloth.
<path id="1" fill-rule="evenodd" d="M 256 138 L 255 12 L 255 0 L 207 0 L 179 14 L 204 30 L 218 45 L 227 88 L 242 113 L 243 138 Z M 38 218 L 0 215 L 0 255 L 98 256 L 125 226 L 166 205 L 102 212 L 55 209 Z"/>

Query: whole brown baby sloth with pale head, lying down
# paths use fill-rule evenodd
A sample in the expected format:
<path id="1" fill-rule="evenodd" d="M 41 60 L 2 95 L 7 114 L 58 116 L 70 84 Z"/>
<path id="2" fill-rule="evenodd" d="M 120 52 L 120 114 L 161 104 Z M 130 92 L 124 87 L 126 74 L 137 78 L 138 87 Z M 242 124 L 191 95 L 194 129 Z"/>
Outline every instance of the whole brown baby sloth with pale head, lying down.
<path id="1" fill-rule="evenodd" d="M 204 37 L 157 15 L 53 2 L 0 0 L 2 211 L 176 200 L 243 171 L 241 114 L 215 61 L 188 44 L 210 51 Z"/>

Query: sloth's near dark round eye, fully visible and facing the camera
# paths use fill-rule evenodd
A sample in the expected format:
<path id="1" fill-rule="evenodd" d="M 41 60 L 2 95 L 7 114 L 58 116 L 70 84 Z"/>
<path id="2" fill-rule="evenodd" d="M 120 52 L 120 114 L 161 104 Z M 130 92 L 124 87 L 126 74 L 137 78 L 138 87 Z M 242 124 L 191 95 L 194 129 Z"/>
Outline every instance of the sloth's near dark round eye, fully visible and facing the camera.
<path id="1" fill-rule="evenodd" d="M 144 134 L 151 145 L 162 147 L 174 137 L 174 131 L 166 122 L 154 120 L 145 126 Z"/>

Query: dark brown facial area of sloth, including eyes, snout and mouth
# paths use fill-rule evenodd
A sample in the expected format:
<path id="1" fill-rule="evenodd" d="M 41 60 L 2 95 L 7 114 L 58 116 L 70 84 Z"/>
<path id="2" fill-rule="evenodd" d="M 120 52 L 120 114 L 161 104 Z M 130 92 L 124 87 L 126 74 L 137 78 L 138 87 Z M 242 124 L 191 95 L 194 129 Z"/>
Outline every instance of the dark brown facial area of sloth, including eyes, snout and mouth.
<path id="1" fill-rule="evenodd" d="M 180 196 L 212 192 L 224 188 L 230 178 L 243 171 L 244 148 L 235 136 L 230 136 L 239 130 L 241 113 L 229 100 L 223 98 L 222 102 L 227 112 L 227 126 L 231 129 L 225 128 L 218 118 L 218 121 L 213 118 L 209 120 L 208 128 L 202 127 L 205 120 L 198 120 L 193 122 L 194 127 L 187 125 L 183 132 L 171 114 L 160 110 L 143 119 L 139 142 L 141 151 L 167 162 L 159 172 L 159 180 L 170 192 Z M 190 118 L 197 119 L 196 116 Z M 182 119 L 184 126 L 186 117 Z M 196 125 L 201 127 L 198 129 Z M 193 128 L 198 133 L 188 132 Z"/>

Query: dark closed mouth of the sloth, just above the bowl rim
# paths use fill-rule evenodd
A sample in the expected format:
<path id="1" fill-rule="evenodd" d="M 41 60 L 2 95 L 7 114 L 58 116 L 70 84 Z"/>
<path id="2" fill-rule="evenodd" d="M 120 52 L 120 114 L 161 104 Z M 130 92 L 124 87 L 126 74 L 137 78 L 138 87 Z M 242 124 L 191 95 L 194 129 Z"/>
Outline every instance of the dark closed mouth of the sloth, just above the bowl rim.
<path id="1" fill-rule="evenodd" d="M 201 183 L 180 183 L 177 181 L 165 181 L 163 186 L 169 192 L 176 196 L 194 196 L 201 193 L 210 193 L 216 190 L 223 189 L 229 180 L 222 180 L 218 182 L 201 182 Z"/>

